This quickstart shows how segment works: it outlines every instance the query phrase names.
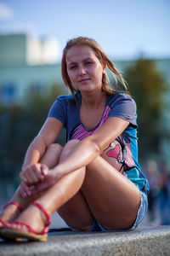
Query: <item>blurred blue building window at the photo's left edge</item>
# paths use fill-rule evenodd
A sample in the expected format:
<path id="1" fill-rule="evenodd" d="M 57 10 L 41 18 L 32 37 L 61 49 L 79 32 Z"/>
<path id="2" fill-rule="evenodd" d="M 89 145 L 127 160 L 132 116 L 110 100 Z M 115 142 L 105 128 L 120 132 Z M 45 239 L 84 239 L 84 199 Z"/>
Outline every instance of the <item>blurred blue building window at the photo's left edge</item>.
<path id="1" fill-rule="evenodd" d="M 5 83 L 0 87 L 0 97 L 3 105 L 11 105 L 16 100 L 16 86 L 13 83 Z"/>

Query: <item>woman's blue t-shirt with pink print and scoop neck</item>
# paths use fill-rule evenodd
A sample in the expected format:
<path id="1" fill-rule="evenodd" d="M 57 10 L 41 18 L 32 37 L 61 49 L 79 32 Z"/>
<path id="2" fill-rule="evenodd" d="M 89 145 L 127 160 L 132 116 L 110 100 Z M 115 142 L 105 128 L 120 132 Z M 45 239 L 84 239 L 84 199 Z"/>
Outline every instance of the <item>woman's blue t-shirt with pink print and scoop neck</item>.
<path id="1" fill-rule="evenodd" d="M 148 190 L 148 181 L 139 166 L 136 104 L 132 97 L 123 93 L 108 95 L 102 118 L 99 124 L 91 130 L 88 130 L 82 124 L 80 118 L 81 94 L 77 93 L 76 98 L 77 101 L 71 95 L 57 97 L 49 110 L 48 117 L 54 117 L 61 121 L 67 133 L 67 141 L 71 139 L 82 140 L 92 135 L 105 123 L 105 120 L 110 117 L 118 117 L 127 120 L 129 125 L 125 131 L 116 138 L 116 141 L 122 146 L 123 175 L 135 183 L 140 190 Z"/>

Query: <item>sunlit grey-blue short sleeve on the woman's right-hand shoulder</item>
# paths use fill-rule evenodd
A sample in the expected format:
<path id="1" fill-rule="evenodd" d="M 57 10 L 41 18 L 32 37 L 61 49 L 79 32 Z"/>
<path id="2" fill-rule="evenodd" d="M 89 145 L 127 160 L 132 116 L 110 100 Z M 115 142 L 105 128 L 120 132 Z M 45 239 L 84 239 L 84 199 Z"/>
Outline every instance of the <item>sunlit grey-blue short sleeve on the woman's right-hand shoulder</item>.
<path id="1" fill-rule="evenodd" d="M 138 127 L 136 123 L 136 103 L 131 96 L 124 94 L 117 95 L 116 99 L 111 103 L 109 117 L 118 117 L 127 120 L 133 128 Z"/>

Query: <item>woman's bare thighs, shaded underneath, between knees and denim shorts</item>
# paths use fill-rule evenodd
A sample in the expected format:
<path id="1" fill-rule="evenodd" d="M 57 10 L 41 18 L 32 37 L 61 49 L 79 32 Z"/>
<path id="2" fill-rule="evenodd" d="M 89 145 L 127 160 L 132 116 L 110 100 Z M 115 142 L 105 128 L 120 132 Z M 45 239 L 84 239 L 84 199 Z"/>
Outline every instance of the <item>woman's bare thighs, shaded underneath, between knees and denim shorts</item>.
<path id="1" fill-rule="evenodd" d="M 73 228 L 88 230 L 93 216 L 108 230 L 124 230 L 135 221 L 140 203 L 139 189 L 111 166 L 115 165 L 113 159 L 102 156 L 105 160 L 99 156 L 87 166 L 82 188 L 58 210 L 61 218 Z M 86 205 L 83 211 L 88 209 L 91 217 L 87 218 L 87 226 L 83 226 L 82 201 Z"/>

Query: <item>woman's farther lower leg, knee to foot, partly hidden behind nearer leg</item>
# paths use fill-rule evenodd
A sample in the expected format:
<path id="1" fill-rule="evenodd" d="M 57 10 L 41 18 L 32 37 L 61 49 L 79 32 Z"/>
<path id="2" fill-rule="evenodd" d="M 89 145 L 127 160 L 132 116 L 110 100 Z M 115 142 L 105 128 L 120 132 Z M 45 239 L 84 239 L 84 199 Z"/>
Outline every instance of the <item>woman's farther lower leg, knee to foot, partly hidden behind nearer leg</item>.
<path id="1" fill-rule="evenodd" d="M 48 168 L 53 168 L 54 166 L 57 165 L 59 161 L 59 155 L 61 154 L 62 149 L 63 148 L 59 144 L 49 145 L 46 153 L 42 157 L 41 163 L 47 165 Z M 14 196 L 10 201 L 18 202 L 20 207 L 23 210 L 25 210 L 26 207 L 30 205 L 31 201 L 35 201 L 37 197 L 39 197 L 40 195 L 41 193 L 38 195 L 33 195 L 33 196 L 23 198 L 20 195 L 20 186 L 19 186 L 19 188 L 15 191 Z M 4 221 L 12 221 L 15 218 L 17 218 L 19 214 L 20 214 L 20 210 L 18 209 L 18 207 L 14 205 L 8 205 L 8 207 L 6 207 L 1 213 L 0 218 L 3 219 Z"/>

